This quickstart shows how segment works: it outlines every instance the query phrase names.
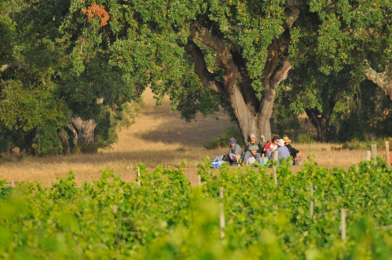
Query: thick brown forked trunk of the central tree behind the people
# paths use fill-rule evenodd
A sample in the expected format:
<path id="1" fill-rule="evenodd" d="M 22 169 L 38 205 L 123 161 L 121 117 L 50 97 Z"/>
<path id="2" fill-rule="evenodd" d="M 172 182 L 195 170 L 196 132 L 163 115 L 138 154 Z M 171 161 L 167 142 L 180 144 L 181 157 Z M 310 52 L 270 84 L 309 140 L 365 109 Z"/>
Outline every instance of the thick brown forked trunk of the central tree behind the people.
<path id="1" fill-rule="evenodd" d="M 275 90 L 280 82 L 287 78 L 287 73 L 291 69 L 291 64 L 287 60 L 282 62 L 280 60 L 284 51 L 281 45 L 287 41 L 286 35 L 277 39 L 269 50 L 269 59 L 262 76 L 264 90 L 260 101 L 257 100 L 256 92 L 251 86 L 252 80 L 247 74 L 245 61 L 238 52 L 228 51 L 226 45 L 220 39 L 215 39 L 208 30 L 198 29 L 191 32 L 191 35 L 219 53 L 216 64 L 225 71 L 222 82 L 217 81 L 208 71 L 204 54 L 193 41 L 189 41 L 184 46 L 194 58 L 195 73 L 203 85 L 226 99 L 237 119 L 244 141 L 246 142 L 251 133 L 256 134 L 258 141 L 269 140 L 271 138 L 269 121 Z"/>

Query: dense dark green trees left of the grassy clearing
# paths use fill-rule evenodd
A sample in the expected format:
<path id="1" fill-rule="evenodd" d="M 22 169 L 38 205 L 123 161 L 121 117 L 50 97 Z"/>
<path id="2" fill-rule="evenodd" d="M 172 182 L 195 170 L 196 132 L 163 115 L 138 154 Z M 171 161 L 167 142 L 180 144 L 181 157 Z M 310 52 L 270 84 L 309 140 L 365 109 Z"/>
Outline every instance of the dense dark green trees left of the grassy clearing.
<path id="1" fill-rule="evenodd" d="M 57 130 L 75 117 L 94 120 L 96 145 L 106 147 L 138 110 L 140 86 L 108 65 L 98 39 L 85 36 L 94 34 L 94 25 L 66 25 L 70 8 L 67 0 L 1 1 L 1 152 L 31 150 L 35 143 L 38 155 L 59 153 Z"/>

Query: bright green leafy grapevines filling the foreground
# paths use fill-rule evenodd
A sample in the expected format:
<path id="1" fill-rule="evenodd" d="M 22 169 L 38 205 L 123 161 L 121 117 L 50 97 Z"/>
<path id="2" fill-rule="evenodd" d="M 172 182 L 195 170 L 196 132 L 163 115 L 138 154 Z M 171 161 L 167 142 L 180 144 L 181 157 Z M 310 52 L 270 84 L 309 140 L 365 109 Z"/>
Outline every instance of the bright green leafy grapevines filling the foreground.
<path id="1" fill-rule="evenodd" d="M 209 158 L 198 187 L 183 167 L 144 164 L 140 186 L 112 171 L 80 185 L 71 171 L 48 188 L 1 180 L 0 259 L 391 259 L 387 164 L 308 161 L 296 174 L 278 167 L 277 184 L 268 167 L 210 169 Z"/>

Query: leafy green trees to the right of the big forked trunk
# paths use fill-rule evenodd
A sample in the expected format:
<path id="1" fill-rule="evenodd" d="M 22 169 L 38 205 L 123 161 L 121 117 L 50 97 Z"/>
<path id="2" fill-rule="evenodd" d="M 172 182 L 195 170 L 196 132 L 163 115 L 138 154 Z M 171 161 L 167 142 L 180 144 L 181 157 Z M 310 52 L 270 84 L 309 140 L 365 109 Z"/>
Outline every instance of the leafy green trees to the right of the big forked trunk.
<path id="1" fill-rule="evenodd" d="M 391 2 L 312 1 L 310 9 L 317 40 L 281 86 L 278 118 L 305 112 L 322 141 L 391 136 Z"/>

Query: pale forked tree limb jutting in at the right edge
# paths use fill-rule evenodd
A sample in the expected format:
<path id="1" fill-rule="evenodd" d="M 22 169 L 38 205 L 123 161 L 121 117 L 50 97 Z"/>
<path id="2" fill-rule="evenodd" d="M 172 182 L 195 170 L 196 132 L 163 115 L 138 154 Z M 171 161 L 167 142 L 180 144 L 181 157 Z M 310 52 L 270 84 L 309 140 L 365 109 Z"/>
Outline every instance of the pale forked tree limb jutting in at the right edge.
<path id="1" fill-rule="evenodd" d="M 392 102 L 392 63 L 388 63 L 386 65 L 384 72 L 377 73 L 374 69 L 372 69 L 368 60 L 365 59 L 365 62 L 366 77 L 376 83 L 377 86 L 379 86 L 379 88 Z"/>

